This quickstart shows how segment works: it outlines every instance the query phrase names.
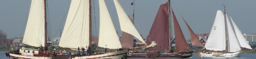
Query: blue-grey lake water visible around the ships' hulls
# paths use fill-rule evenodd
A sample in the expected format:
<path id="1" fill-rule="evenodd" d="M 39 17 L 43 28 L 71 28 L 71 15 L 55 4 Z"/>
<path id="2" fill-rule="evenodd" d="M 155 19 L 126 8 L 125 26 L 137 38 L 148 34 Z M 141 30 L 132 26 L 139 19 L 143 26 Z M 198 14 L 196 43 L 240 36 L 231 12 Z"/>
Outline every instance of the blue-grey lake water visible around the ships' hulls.
<path id="1" fill-rule="evenodd" d="M 7 51 L 0 51 L 0 59 L 13 59 L 12 57 L 6 57 L 5 53 Z M 242 53 L 239 58 L 201 58 L 197 57 L 198 53 L 193 53 L 192 59 L 256 59 L 256 53 Z M 141 58 L 137 58 L 141 59 Z"/>

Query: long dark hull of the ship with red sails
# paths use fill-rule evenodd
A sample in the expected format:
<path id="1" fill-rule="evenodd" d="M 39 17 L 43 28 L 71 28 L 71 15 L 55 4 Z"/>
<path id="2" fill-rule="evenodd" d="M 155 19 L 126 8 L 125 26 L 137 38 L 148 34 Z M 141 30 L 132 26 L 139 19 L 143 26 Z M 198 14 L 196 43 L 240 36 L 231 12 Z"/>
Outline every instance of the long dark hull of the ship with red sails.
<path id="1" fill-rule="evenodd" d="M 128 58 L 189 58 L 192 56 L 191 52 L 172 53 L 172 54 L 128 54 Z"/>

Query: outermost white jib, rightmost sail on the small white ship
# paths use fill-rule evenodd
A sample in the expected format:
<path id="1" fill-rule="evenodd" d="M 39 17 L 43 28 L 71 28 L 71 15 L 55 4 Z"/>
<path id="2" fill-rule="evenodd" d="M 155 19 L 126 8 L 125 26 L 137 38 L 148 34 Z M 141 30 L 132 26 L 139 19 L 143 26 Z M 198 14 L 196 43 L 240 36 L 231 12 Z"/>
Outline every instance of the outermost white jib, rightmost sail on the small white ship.
<path id="1" fill-rule="evenodd" d="M 240 29 L 236 26 L 235 22 L 233 21 L 233 19 L 230 17 L 232 23 L 233 23 L 233 26 L 234 26 L 234 29 L 235 29 L 235 32 L 236 32 L 236 37 L 240 43 L 240 46 L 241 47 L 244 47 L 244 48 L 248 48 L 248 49 L 251 49 L 249 43 L 246 41 L 246 39 L 244 38 L 243 34 L 240 32 Z"/>

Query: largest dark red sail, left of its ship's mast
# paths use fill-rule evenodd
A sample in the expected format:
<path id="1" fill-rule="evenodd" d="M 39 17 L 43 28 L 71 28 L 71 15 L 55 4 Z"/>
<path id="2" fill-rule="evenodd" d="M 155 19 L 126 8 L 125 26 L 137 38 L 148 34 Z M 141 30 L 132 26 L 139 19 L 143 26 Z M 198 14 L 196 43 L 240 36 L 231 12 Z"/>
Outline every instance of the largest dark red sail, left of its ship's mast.
<path id="1" fill-rule="evenodd" d="M 168 5 L 169 2 L 159 7 L 154 23 L 146 39 L 148 45 L 151 44 L 152 41 L 155 41 L 157 46 L 149 49 L 166 50 L 169 46 Z"/>

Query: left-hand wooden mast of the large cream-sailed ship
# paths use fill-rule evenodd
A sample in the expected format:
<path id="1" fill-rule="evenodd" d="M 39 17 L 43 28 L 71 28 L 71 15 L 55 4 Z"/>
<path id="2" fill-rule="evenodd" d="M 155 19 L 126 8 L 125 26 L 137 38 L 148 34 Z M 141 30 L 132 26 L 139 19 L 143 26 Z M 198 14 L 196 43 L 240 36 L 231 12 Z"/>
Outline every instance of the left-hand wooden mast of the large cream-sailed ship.
<path id="1" fill-rule="evenodd" d="M 47 51 L 47 23 L 46 23 L 46 0 L 43 0 L 44 8 L 45 8 L 45 49 Z"/>

